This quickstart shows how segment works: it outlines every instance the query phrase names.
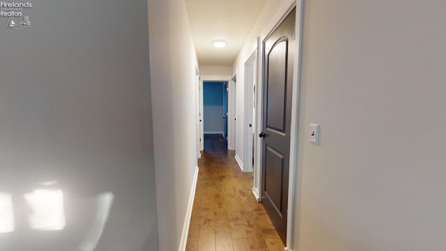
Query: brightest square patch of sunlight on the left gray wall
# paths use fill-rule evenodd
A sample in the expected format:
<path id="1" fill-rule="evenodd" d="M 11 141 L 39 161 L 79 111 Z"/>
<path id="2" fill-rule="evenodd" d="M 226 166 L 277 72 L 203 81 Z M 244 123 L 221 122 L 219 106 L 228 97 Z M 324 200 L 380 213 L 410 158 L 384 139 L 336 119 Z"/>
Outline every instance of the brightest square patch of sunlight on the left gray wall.
<path id="1" fill-rule="evenodd" d="M 65 228 L 62 190 L 34 190 L 24 195 L 31 208 L 29 226 L 38 230 L 61 230 Z"/>

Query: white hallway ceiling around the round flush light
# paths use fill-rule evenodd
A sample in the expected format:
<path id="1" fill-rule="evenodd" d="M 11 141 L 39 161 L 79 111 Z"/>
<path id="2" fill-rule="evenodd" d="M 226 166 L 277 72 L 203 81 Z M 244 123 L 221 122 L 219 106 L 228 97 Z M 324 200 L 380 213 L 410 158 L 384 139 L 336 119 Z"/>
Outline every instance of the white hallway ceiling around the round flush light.
<path id="1" fill-rule="evenodd" d="M 200 66 L 232 66 L 266 0 L 185 0 Z M 215 40 L 228 45 L 217 49 Z"/>

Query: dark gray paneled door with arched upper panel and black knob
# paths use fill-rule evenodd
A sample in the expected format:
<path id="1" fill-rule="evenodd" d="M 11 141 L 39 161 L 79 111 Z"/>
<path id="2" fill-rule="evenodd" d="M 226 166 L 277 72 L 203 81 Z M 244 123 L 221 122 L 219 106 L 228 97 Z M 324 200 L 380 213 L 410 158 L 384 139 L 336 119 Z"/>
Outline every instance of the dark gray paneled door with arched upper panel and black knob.
<path id="1" fill-rule="evenodd" d="M 286 243 L 295 9 L 263 41 L 262 203 Z"/>

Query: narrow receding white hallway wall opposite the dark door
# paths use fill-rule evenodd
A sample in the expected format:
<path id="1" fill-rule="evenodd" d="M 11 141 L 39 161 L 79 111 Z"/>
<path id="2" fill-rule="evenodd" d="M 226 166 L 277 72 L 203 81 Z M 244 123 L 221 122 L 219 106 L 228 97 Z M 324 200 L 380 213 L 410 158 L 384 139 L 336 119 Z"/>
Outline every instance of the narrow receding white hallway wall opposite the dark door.
<path id="1" fill-rule="evenodd" d="M 148 1 L 160 250 L 178 250 L 197 167 L 197 59 L 182 0 Z"/>

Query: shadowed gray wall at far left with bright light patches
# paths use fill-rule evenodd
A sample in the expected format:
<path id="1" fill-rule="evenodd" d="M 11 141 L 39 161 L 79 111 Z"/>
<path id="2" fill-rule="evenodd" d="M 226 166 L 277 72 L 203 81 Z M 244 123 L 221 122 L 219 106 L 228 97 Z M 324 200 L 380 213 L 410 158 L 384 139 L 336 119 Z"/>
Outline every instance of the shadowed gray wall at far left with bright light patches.
<path id="1" fill-rule="evenodd" d="M 0 250 L 157 250 L 146 1 L 41 0 L 29 16 L 22 30 L 0 18 L 0 193 L 15 222 Z M 63 192 L 62 231 L 30 229 L 36 189 Z"/>

